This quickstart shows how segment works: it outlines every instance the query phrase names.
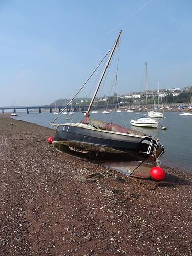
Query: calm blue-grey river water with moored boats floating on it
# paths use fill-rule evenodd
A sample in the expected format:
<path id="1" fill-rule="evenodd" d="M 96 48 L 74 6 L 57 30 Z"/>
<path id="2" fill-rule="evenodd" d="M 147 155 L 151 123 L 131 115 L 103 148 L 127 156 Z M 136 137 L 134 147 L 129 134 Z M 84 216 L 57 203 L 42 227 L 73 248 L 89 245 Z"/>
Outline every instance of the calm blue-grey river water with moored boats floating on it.
<path id="1" fill-rule="evenodd" d="M 113 122 L 115 124 L 127 127 L 128 129 L 140 131 L 148 135 L 159 138 L 160 143 L 165 147 L 165 153 L 161 156 L 160 161 L 170 167 L 178 167 L 187 172 L 192 173 L 192 117 L 181 116 L 177 112 L 165 113 L 166 118 L 161 118 L 160 124 L 166 126 L 167 130 L 162 130 L 161 125 L 157 129 L 153 128 L 137 128 L 130 124 L 131 119 L 137 118 L 139 115 L 135 113 L 121 113 L 114 112 L 113 115 L 90 114 L 90 117 L 106 122 Z M 56 115 L 49 112 L 42 113 L 18 113 L 18 120 L 24 120 L 31 123 L 36 123 L 41 126 L 51 127 L 50 123 L 56 118 Z M 68 118 L 68 120 L 66 120 Z M 83 113 L 76 112 L 75 115 L 61 114 L 55 123 L 67 123 L 72 119 L 75 122 L 80 122 L 83 118 Z M 123 121 L 124 120 L 124 121 Z M 54 129 L 54 128 L 53 128 Z"/>

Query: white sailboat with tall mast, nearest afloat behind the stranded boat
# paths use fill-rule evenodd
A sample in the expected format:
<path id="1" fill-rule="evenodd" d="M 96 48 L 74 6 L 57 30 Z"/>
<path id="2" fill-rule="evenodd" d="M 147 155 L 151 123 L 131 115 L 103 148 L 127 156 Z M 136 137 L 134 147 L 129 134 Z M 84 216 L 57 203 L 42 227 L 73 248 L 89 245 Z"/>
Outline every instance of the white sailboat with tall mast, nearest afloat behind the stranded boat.
<path id="1" fill-rule="evenodd" d="M 138 117 L 135 120 L 131 120 L 130 123 L 133 126 L 139 126 L 139 127 L 151 127 L 151 128 L 157 128 L 159 121 L 156 119 L 152 119 L 148 117 L 148 103 L 147 103 L 147 62 L 145 63 L 146 66 L 146 113 L 147 117 Z"/>

